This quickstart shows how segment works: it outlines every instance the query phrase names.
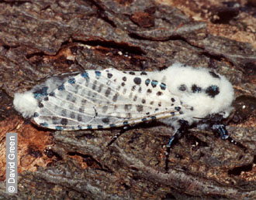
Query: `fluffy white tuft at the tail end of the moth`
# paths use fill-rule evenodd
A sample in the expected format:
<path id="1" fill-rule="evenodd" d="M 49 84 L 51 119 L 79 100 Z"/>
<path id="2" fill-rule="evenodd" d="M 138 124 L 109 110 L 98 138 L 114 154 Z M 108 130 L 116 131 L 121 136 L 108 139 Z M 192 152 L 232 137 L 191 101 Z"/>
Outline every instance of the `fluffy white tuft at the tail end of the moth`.
<path id="1" fill-rule="evenodd" d="M 38 107 L 38 101 L 33 97 L 32 91 L 25 93 L 15 93 L 13 105 L 23 117 L 32 117 L 36 107 Z"/>

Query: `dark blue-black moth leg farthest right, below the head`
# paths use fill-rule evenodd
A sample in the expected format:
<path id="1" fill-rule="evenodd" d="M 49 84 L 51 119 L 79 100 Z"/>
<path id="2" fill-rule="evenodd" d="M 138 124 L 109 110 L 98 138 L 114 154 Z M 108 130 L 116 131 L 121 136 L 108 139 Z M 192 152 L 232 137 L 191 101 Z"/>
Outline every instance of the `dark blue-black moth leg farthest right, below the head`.
<path id="1" fill-rule="evenodd" d="M 235 144 L 244 151 L 247 151 L 247 147 L 244 147 L 243 144 L 241 144 L 238 141 L 235 141 L 232 137 L 229 136 L 225 124 L 213 124 L 212 130 L 217 134 L 220 134 L 221 139 L 230 141 L 231 144 Z"/>

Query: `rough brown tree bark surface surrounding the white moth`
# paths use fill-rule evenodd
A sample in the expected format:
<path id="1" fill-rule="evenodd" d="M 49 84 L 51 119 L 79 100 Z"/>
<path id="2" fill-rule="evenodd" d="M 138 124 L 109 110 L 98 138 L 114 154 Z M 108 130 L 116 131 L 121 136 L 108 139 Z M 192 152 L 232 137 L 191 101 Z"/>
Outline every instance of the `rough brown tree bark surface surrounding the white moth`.
<path id="1" fill-rule="evenodd" d="M 0 1 L 0 198 L 256 198 L 255 5 L 185 2 Z M 47 76 L 151 71 L 176 61 L 213 68 L 233 83 L 227 130 L 247 151 L 192 129 L 171 149 L 166 173 L 171 127 L 138 124 L 107 147 L 120 129 L 43 130 L 12 107 L 14 93 Z M 19 134 L 19 193 L 12 196 L 5 194 L 10 131 Z"/>

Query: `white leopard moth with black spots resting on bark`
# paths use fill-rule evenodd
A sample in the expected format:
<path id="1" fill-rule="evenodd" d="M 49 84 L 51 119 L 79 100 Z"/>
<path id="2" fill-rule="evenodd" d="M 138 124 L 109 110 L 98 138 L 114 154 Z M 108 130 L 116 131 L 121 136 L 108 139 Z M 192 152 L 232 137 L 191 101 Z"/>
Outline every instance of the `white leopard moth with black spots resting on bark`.
<path id="1" fill-rule="evenodd" d="M 174 63 L 154 72 L 110 68 L 62 79 L 53 76 L 32 90 L 16 93 L 13 104 L 23 117 L 54 130 L 126 127 L 161 120 L 177 133 L 192 124 L 203 127 L 206 120 L 202 119 L 209 116 L 228 117 L 233 100 L 233 86 L 224 76 Z M 212 125 L 223 130 L 219 124 Z M 227 137 L 225 131 L 222 137 Z"/>

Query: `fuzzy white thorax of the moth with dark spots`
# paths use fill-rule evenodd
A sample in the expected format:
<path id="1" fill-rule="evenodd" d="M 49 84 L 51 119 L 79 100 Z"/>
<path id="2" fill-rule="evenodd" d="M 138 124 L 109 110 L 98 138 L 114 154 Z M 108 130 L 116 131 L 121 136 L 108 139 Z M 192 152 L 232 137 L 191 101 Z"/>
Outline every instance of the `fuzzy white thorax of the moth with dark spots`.
<path id="1" fill-rule="evenodd" d="M 168 90 L 179 97 L 184 106 L 192 107 L 192 110 L 186 110 L 182 117 L 192 123 L 195 121 L 193 117 L 203 118 L 209 114 L 223 114 L 223 117 L 228 117 L 232 110 L 233 86 L 224 76 L 217 73 L 214 73 L 216 76 L 213 76 L 211 73 L 213 71 L 209 69 L 195 69 L 175 63 L 168 69 L 156 73 L 154 77 L 162 76 Z M 185 91 L 180 90 L 182 85 L 185 86 Z M 193 93 L 193 85 L 198 86 L 202 91 Z M 219 87 L 220 93 L 210 97 L 206 93 L 209 86 Z"/>

